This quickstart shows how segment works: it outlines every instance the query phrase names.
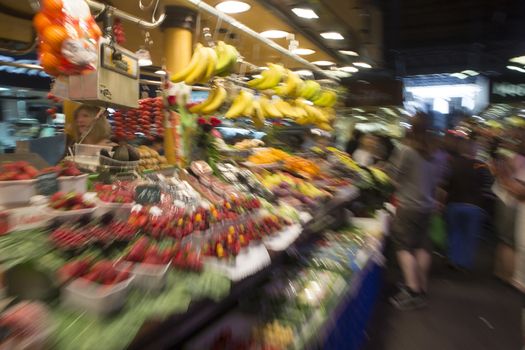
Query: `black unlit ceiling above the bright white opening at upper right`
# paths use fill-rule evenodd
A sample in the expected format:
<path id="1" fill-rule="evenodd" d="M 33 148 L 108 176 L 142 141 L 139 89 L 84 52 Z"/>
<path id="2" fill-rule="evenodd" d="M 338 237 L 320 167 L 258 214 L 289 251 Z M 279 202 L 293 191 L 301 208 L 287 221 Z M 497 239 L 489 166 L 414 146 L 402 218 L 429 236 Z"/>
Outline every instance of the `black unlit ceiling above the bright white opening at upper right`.
<path id="1" fill-rule="evenodd" d="M 505 72 L 525 54 L 523 0 L 386 0 L 384 53 L 396 75 Z"/>

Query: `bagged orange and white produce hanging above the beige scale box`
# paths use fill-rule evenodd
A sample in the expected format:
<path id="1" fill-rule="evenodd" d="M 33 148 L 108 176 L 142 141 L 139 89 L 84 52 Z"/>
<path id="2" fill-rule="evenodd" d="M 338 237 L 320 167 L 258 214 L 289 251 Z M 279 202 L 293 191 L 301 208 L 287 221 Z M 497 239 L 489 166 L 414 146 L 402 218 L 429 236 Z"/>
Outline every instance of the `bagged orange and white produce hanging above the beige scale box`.
<path id="1" fill-rule="evenodd" d="M 96 67 L 100 28 L 80 0 L 46 0 L 33 18 L 39 59 L 49 75 L 73 75 Z"/>

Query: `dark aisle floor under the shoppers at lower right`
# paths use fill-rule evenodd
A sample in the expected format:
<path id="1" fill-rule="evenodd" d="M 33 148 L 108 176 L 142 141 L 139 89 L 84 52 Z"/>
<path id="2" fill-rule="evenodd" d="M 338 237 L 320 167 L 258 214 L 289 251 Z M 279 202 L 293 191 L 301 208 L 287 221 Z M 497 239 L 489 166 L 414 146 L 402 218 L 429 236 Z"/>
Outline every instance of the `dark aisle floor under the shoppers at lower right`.
<path id="1" fill-rule="evenodd" d="M 522 296 L 491 275 L 492 244 L 484 244 L 474 272 L 448 268 L 435 256 L 429 306 L 398 311 L 388 304 L 399 278 L 385 274 L 364 350 L 519 350 L 522 347 Z"/>

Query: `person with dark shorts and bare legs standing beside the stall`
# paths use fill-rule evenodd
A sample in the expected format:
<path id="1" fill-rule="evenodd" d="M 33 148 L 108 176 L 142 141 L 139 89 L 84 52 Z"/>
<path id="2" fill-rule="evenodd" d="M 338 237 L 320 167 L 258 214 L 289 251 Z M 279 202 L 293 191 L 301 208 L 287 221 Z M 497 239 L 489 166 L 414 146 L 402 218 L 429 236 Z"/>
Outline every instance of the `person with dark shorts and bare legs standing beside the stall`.
<path id="1" fill-rule="evenodd" d="M 398 200 L 392 237 L 404 285 L 391 302 L 403 310 L 424 306 L 428 291 L 427 275 L 431 264 L 428 231 L 442 171 L 430 126 L 427 115 L 414 116 L 406 144 L 392 156 L 391 176 L 397 186 Z"/>

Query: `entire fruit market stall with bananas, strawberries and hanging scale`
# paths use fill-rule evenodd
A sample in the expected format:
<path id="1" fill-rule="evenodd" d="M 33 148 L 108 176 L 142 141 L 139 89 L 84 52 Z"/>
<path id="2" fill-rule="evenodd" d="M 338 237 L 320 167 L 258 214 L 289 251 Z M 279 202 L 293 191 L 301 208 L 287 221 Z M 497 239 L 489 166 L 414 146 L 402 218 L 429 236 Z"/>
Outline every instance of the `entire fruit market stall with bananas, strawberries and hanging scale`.
<path id="1" fill-rule="evenodd" d="M 77 129 L 58 164 L 22 153 L 0 165 L 0 345 L 339 348 L 350 332 L 357 349 L 392 188 L 331 147 L 337 81 L 279 63 L 246 74 L 234 45 L 207 40 L 142 98 L 139 58 L 101 37 L 87 3 L 77 15 L 45 2 L 35 20 L 52 98 L 90 106 L 66 116 Z M 64 32 L 74 17 L 77 34 Z M 82 57 L 75 40 L 89 41 Z M 111 139 L 83 142 L 99 121 Z"/>

